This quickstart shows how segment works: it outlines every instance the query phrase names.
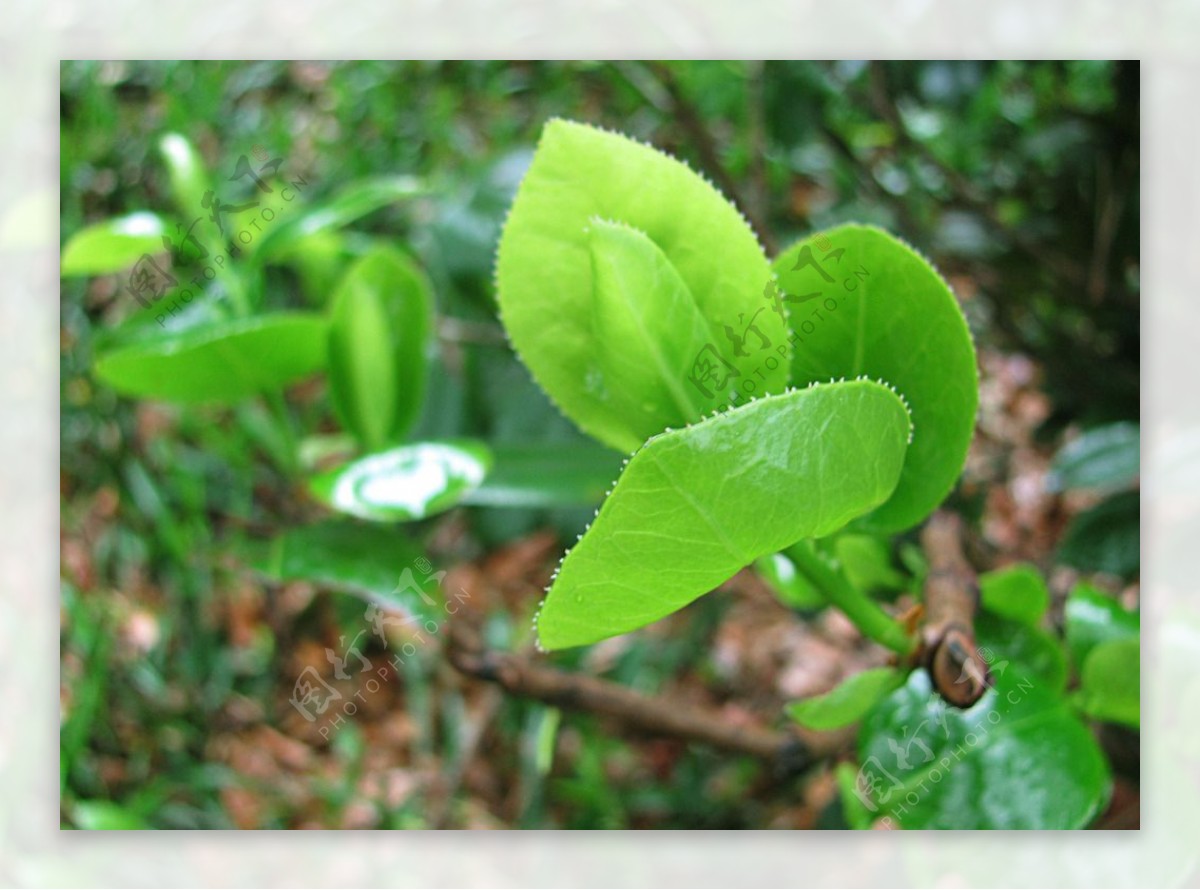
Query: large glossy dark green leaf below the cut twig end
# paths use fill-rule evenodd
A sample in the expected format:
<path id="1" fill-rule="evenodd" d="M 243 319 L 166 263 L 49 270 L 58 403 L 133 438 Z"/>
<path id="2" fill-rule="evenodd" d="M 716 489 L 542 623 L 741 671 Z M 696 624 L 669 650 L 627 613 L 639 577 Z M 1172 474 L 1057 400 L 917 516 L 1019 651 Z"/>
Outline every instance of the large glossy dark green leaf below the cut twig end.
<path id="1" fill-rule="evenodd" d="M 1104 754 L 1060 693 L 1012 663 L 966 710 L 916 670 L 859 732 L 859 799 L 905 829 L 1078 829 L 1108 800 Z"/>

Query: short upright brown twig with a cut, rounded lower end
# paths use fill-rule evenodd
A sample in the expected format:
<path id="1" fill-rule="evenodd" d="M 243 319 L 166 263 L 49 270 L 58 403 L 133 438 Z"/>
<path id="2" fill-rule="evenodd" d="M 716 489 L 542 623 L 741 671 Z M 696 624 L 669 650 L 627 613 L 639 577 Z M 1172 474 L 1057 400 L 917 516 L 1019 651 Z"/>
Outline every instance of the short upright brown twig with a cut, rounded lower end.
<path id="1" fill-rule="evenodd" d="M 918 661 L 932 676 L 938 693 L 953 705 L 967 708 L 988 687 L 988 666 L 976 645 L 974 613 L 979 585 L 962 555 L 962 521 L 938 511 L 920 535 L 929 558 L 925 579 L 925 619 Z"/>

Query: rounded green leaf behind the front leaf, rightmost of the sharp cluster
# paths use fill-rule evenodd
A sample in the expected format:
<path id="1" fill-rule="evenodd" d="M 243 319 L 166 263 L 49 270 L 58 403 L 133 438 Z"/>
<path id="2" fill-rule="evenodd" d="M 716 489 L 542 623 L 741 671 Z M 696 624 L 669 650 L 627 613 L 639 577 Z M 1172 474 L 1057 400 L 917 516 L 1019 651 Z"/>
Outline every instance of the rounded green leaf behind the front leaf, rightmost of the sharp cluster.
<path id="1" fill-rule="evenodd" d="M 808 237 L 774 269 L 796 337 L 793 385 L 865 374 L 907 399 L 913 443 L 900 483 L 864 524 L 917 524 L 954 487 L 974 429 L 974 347 L 954 295 L 912 248 L 865 225 Z"/>

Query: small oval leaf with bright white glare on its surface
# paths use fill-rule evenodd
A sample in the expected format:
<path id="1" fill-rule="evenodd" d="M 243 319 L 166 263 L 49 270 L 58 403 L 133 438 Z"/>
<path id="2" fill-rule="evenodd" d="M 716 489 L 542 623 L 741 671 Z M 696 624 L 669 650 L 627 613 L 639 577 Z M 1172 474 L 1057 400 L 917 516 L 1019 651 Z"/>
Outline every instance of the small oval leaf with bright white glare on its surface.
<path id="1" fill-rule="evenodd" d="M 407 522 L 460 503 L 484 481 L 491 464 L 482 443 L 421 441 L 323 473 L 310 487 L 338 512 L 374 522 Z"/>

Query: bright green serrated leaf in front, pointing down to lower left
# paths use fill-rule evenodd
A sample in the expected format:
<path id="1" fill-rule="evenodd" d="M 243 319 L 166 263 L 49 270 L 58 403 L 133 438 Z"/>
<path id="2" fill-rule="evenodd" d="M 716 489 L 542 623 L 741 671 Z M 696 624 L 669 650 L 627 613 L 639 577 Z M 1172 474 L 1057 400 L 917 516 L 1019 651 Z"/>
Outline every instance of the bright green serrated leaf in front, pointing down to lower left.
<path id="1" fill-rule="evenodd" d="M 652 438 L 563 560 L 538 618 L 541 645 L 635 630 L 758 557 L 835 531 L 892 493 L 908 432 L 894 392 L 856 380 Z"/>

